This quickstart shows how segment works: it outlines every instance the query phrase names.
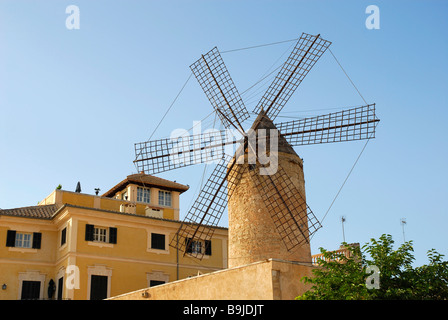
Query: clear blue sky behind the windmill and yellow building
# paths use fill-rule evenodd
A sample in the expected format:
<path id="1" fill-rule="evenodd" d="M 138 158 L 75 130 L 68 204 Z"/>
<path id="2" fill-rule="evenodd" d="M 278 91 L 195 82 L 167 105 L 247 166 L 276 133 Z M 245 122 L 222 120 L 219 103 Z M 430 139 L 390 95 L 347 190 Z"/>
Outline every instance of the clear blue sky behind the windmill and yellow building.
<path id="1" fill-rule="evenodd" d="M 80 9 L 79 30 L 65 25 L 71 4 Z M 371 4 L 380 9 L 379 30 L 365 26 Z M 0 0 L 0 208 L 35 205 L 58 184 L 74 191 L 80 181 L 83 192 L 105 192 L 135 173 L 134 143 L 151 136 L 190 64 L 214 46 L 226 51 L 320 33 L 363 97 L 376 103 L 381 122 L 313 237 L 313 253 L 339 246 L 345 216 L 347 242 L 388 233 L 399 244 L 406 218 L 417 265 L 431 248 L 447 255 L 447 9 L 447 1 Z M 242 92 L 281 63 L 290 45 L 222 56 Z M 249 110 L 260 90 L 243 96 Z M 362 104 L 326 52 L 277 121 Z M 192 77 L 153 138 L 189 129 L 211 111 Z M 318 219 L 364 144 L 295 148 Z M 191 186 L 181 215 L 203 171 L 161 174 Z"/>

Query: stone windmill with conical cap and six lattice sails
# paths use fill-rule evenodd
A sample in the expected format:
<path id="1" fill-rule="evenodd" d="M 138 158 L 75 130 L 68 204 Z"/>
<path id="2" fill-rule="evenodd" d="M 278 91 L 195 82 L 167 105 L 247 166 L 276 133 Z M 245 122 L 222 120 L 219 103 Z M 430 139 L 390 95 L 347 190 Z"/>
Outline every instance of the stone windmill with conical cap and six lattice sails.
<path id="1" fill-rule="evenodd" d="M 257 117 L 247 132 L 243 123 L 250 113 L 219 50 L 213 48 L 190 66 L 226 129 L 135 144 L 134 163 L 139 172 L 156 174 L 219 161 L 170 246 L 202 259 L 210 248 L 214 227 L 229 205 L 229 259 L 235 259 L 232 265 L 257 261 L 276 251 L 284 257 L 297 247 L 305 249 L 293 260 L 310 256 L 310 237 L 321 224 L 306 203 L 302 162 L 292 147 L 369 139 L 374 137 L 379 121 L 375 104 L 369 104 L 273 123 L 330 44 L 320 34 L 301 35 L 255 107 Z M 230 130 L 240 133 L 240 137 L 229 137 Z M 225 152 L 229 145 L 238 146 L 233 156 Z M 260 150 L 268 151 L 263 156 Z M 268 155 L 278 156 L 274 168 L 266 162 Z M 250 259 L 239 259 L 245 255 Z"/>

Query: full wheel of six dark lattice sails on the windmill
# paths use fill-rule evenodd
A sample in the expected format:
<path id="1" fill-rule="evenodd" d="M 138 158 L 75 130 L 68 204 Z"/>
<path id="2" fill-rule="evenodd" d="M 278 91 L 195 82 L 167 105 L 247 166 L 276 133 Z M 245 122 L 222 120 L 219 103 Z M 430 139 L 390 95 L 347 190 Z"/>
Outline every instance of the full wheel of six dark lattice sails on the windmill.
<path id="1" fill-rule="evenodd" d="M 268 174 L 261 173 L 266 165 L 255 152 L 257 139 L 249 132 L 269 129 L 278 136 L 279 151 L 294 146 L 353 141 L 374 137 L 379 119 L 375 104 L 346 109 L 340 112 L 311 118 L 273 124 L 289 98 L 308 72 L 325 53 L 331 42 L 320 34 L 303 33 L 288 59 L 254 109 L 257 115 L 251 130 L 245 132 L 242 123 L 250 118 L 229 72 L 215 47 L 201 56 L 190 68 L 226 129 L 237 130 L 241 139 L 228 139 L 226 130 L 189 136 L 173 141 L 160 139 L 135 144 L 134 163 L 140 172 L 157 174 L 205 161 L 219 160 L 198 198 L 187 213 L 170 246 L 202 259 L 207 248 L 192 250 L 194 243 L 210 245 L 214 227 L 225 212 L 227 203 L 244 172 L 256 186 L 264 206 L 288 251 L 303 243 L 321 227 L 320 222 L 306 204 L 304 195 L 291 182 L 281 167 Z M 273 131 L 274 130 L 274 131 Z M 274 134 L 275 133 L 275 134 Z M 269 140 L 269 137 L 268 137 Z M 254 142 L 255 141 L 255 142 Z M 227 155 L 224 148 L 239 145 L 235 155 Z M 219 150 L 220 152 L 210 152 Z M 241 155 L 250 154 L 253 162 L 240 163 Z M 182 161 L 173 161 L 182 158 Z"/>

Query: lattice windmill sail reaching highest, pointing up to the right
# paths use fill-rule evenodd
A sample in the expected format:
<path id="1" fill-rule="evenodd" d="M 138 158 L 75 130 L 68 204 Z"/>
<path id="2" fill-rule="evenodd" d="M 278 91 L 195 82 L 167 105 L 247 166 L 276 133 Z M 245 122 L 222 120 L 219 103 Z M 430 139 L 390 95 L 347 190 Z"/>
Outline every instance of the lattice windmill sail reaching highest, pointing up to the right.
<path id="1" fill-rule="evenodd" d="M 322 39 L 320 35 L 313 36 L 302 33 L 290 56 L 255 107 L 254 112 L 259 114 L 261 110 L 265 110 L 266 115 L 274 120 L 330 45 L 331 42 Z"/>

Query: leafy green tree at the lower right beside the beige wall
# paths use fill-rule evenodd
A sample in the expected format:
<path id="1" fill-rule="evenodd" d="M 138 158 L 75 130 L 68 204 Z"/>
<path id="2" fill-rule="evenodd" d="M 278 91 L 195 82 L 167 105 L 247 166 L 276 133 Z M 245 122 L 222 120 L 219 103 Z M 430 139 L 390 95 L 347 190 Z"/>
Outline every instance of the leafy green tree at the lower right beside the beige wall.
<path id="1" fill-rule="evenodd" d="M 428 251 L 429 264 L 412 267 L 412 241 L 393 249 L 391 235 L 371 239 L 362 248 L 343 245 L 351 255 L 320 248 L 323 258 L 312 277 L 302 281 L 311 289 L 298 300 L 358 300 L 358 299 L 448 299 L 448 261 L 436 250 Z M 376 266 L 379 274 L 369 274 L 368 266 Z M 378 277 L 377 289 L 367 282 Z"/>

